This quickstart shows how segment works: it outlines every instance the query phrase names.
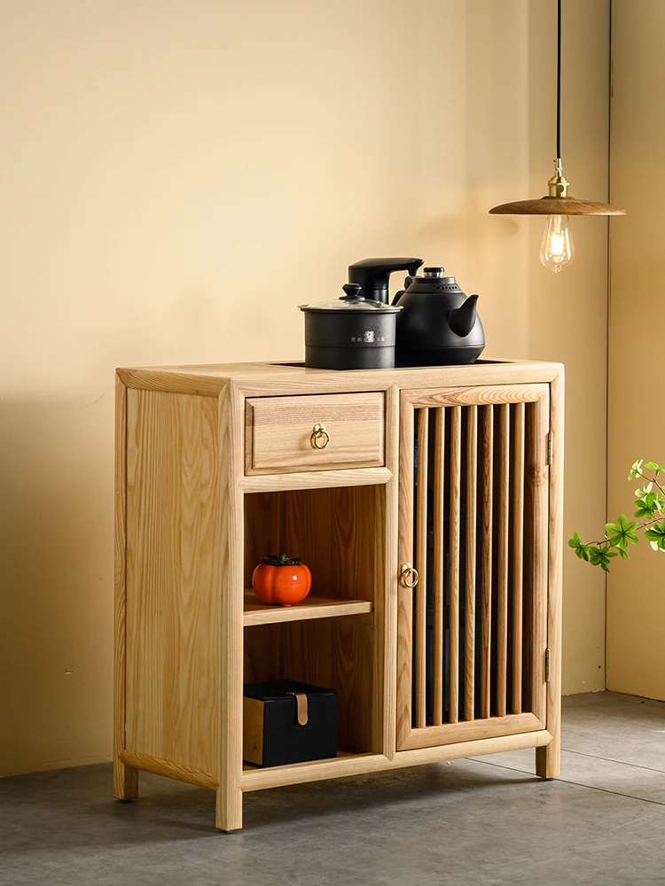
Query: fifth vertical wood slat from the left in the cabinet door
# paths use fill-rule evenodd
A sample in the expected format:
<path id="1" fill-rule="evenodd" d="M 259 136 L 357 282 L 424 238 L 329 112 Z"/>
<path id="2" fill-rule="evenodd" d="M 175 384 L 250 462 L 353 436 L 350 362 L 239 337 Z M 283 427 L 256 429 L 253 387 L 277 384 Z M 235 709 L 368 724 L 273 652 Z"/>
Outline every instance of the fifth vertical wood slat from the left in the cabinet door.
<path id="1" fill-rule="evenodd" d="M 483 407 L 482 423 L 482 582 L 481 582 L 481 718 L 489 717 L 492 637 L 492 461 L 494 408 Z"/>

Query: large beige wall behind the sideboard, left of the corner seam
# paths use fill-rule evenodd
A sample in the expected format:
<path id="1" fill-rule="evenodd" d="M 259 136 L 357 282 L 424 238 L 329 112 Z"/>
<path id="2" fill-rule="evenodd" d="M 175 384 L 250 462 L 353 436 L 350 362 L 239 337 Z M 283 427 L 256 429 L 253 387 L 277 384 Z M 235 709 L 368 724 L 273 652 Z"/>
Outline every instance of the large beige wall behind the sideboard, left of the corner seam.
<path id="1" fill-rule="evenodd" d="M 606 191 L 608 0 L 568 4 L 567 173 Z M 602 523 L 606 226 L 538 263 L 547 0 L 4 0 L 0 772 L 110 757 L 113 368 L 297 358 L 296 305 L 414 253 L 489 355 L 566 361 L 567 530 Z M 584 395 L 590 385 L 593 398 Z M 564 688 L 603 686 L 567 558 Z"/>

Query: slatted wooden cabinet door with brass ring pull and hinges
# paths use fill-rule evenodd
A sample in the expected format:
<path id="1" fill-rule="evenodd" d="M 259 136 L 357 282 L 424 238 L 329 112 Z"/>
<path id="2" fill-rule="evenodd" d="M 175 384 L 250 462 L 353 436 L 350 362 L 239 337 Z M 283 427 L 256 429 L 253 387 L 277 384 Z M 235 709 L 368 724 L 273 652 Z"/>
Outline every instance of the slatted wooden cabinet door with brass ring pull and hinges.
<path id="1" fill-rule="evenodd" d="M 400 413 L 397 750 L 544 729 L 549 385 Z"/>

